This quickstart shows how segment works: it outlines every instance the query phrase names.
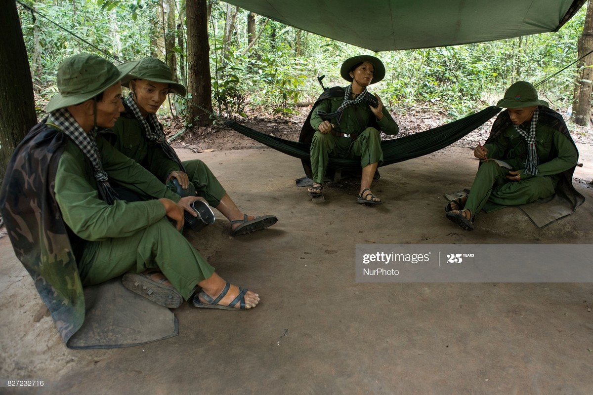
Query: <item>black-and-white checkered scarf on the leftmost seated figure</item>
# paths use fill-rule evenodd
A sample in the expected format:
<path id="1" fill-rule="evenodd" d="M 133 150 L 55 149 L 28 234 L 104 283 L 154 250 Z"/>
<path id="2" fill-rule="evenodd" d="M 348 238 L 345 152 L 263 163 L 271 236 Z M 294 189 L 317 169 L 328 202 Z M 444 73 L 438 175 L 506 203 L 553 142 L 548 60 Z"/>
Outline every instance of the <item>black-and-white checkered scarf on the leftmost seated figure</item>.
<path id="1" fill-rule="evenodd" d="M 55 126 L 65 133 L 66 136 L 70 137 L 88 160 L 90 160 L 93 166 L 93 174 L 95 179 L 97 179 L 97 189 L 100 197 L 109 205 L 118 200 L 117 193 L 109 185 L 109 176 L 103 170 L 103 162 L 101 162 L 101 154 L 99 153 L 94 133 L 92 131 L 91 133 L 86 133 L 82 130 L 78 122 L 76 122 L 66 108 L 59 108 L 52 111 L 47 117 L 46 124 Z"/>

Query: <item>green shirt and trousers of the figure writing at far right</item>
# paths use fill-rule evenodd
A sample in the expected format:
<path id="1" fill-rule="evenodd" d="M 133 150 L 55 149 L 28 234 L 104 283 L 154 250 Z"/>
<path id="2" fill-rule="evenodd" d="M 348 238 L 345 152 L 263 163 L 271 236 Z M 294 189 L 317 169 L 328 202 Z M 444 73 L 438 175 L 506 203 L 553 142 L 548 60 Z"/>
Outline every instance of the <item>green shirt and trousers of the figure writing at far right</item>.
<path id="1" fill-rule="evenodd" d="M 512 165 L 512 170 L 519 171 L 520 181 L 507 179 L 509 169 L 493 160 L 483 162 L 464 208 L 474 214 L 482 208 L 489 212 L 505 205 L 532 203 L 554 194 L 560 174 L 576 165 L 578 152 L 568 137 L 541 121 L 537 124 L 535 136 L 535 149 L 540 159 L 535 176 L 525 174 L 527 142 L 512 125 L 506 127 L 496 140 L 484 144 L 488 150 L 487 157 Z"/>

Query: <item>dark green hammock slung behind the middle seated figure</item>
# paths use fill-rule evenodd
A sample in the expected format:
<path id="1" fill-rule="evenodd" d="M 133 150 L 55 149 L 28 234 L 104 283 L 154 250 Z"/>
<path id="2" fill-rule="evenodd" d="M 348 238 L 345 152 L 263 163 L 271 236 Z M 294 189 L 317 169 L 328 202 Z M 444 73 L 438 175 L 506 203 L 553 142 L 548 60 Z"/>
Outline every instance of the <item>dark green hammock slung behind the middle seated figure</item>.
<path id="1" fill-rule="evenodd" d="M 383 149 L 384 161 L 381 166 L 419 158 L 420 156 L 428 155 L 429 153 L 447 147 L 461 139 L 461 137 L 466 136 L 471 131 L 476 130 L 479 126 L 482 126 L 487 120 L 498 114 L 500 110 L 500 107 L 490 106 L 484 108 L 484 110 L 479 113 L 471 114 L 468 117 L 435 127 L 434 129 L 421 131 L 393 140 L 383 140 L 381 142 L 381 147 Z M 310 144 L 269 136 L 260 131 L 238 124 L 235 121 L 226 121 L 225 124 L 244 136 L 285 153 L 286 155 L 305 160 L 308 160 L 310 157 Z M 330 158 L 328 167 L 342 169 L 344 171 L 360 171 L 361 162 L 359 160 Z"/>

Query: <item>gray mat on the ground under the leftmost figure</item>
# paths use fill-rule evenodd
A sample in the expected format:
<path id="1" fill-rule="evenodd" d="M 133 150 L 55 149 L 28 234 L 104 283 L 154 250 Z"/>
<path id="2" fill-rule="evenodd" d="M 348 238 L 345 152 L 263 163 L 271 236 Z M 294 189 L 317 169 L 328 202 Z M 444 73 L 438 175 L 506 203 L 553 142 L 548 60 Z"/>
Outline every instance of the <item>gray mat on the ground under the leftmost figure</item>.
<path id="1" fill-rule="evenodd" d="M 119 348 L 178 335 L 173 311 L 127 290 L 121 278 L 84 288 L 86 316 L 70 348 Z"/>

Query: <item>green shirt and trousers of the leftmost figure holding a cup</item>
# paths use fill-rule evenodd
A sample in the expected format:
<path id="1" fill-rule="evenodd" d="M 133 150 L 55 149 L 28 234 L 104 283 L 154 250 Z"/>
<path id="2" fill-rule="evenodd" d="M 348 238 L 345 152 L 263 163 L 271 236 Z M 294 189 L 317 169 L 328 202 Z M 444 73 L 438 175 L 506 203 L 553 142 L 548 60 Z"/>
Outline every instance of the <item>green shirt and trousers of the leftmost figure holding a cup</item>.
<path id="1" fill-rule="evenodd" d="M 180 199 L 101 136 L 97 146 L 110 180 L 154 198 Z M 113 205 L 101 200 L 92 166 L 71 141 L 60 156 L 54 191 L 63 220 L 78 236 L 71 237 L 71 244 L 82 284 L 98 284 L 128 271 L 158 267 L 187 299 L 196 284 L 214 272 L 168 222 L 158 200 L 117 200 Z"/>

